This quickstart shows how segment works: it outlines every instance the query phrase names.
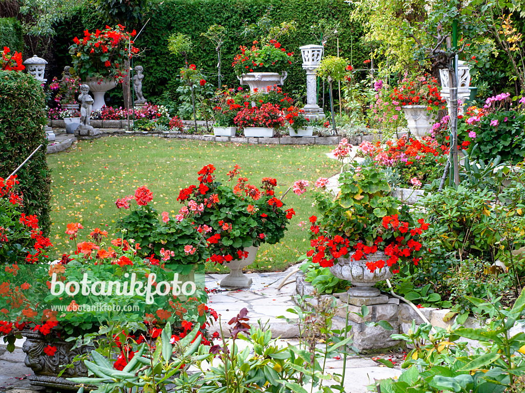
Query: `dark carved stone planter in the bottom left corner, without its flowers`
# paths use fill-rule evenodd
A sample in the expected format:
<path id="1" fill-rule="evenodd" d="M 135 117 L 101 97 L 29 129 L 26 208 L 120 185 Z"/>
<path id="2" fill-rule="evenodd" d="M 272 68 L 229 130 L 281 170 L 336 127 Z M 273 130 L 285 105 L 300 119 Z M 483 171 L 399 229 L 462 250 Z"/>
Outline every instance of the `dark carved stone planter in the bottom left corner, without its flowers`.
<path id="1" fill-rule="evenodd" d="M 90 354 L 94 347 L 74 348 L 74 343 L 58 341 L 52 344 L 57 347 L 55 355 L 48 356 L 44 353 L 44 348 L 49 342 L 44 335 L 31 330 L 24 331 L 22 335 L 26 337 L 26 341 L 22 345 L 22 351 L 26 354 L 24 363 L 35 373 L 29 376 L 31 385 L 55 389 L 78 389 L 75 387 L 75 383 L 66 378 L 87 377 L 88 369 L 84 362 L 75 362 L 74 367 L 66 368 L 65 372 L 59 377 L 58 374 L 63 369 L 60 366 L 70 364 L 77 355 Z"/>

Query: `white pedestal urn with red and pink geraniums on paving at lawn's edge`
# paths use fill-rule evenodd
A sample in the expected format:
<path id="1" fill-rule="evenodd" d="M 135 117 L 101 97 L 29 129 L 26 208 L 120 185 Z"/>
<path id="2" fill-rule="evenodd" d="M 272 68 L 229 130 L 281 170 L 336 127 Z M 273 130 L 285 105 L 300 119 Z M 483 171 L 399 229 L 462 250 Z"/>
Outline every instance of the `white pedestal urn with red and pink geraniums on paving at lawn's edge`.
<path id="1" fill-rule="evenodd" d="M 220 282 L 225 287 L 248 287 L 251 278 L 243 273 L 251 265 L 262 243 L 276 244 L 285 235 L 295 215 L 274 195 L 277 180 L 264 177 L 258 185 L 240 176 L 240 167 L 215 178 L 215 167 L 206 165 L 197 174 L 198 185 L 183 189 L 177 200 L 183 206 L 176 220 L 191 217 L 204 233 L 207 261 L 227 266 L 230 274 Z"/>

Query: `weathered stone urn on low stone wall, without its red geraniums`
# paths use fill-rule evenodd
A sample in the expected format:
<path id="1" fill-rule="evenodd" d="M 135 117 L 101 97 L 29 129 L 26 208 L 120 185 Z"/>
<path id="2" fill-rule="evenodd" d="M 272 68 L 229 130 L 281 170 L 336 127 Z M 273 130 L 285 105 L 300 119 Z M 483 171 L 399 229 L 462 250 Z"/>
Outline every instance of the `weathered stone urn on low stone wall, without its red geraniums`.
<path id="1" fill-rule="evenodd" d="M 337 278 L 349 280 L 354 287 L 346 293 L 341 294 L 340 299 L 343 302 L 349 302 L 353 305 L 370 305 L 381 304 L 388 301 L 386 295 L 381 295 L 377 288 L 372 288 L 377 282 L 386 280 L 393 276 L 390 268 L 386 265 L 381 269 L 375 269 L 371 272 L 366 267 L 366 262 L 388 259 L 382 251 L 377 251 L 367 255 L 368 259 L 352 260 L 350 258 L 338 258 L 337 264 L 330 267 L 330 272 Z"/>

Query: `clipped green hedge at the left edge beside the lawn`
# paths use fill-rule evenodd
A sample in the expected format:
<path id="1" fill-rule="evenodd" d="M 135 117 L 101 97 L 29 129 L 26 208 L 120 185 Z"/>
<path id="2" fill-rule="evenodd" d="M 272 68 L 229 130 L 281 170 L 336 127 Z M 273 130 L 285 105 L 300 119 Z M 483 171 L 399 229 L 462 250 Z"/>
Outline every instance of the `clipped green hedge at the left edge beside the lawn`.
<path id="1" fill-rule="evenodd" d="M 37 214 L 49 232 L 50 177 L 46 161 L 45 95 L 40 82 L 23 72 L 0 71 L 0 177 L 6 178 L 38 145 L 43 144 L 18 174 L 24 213 Z"/>

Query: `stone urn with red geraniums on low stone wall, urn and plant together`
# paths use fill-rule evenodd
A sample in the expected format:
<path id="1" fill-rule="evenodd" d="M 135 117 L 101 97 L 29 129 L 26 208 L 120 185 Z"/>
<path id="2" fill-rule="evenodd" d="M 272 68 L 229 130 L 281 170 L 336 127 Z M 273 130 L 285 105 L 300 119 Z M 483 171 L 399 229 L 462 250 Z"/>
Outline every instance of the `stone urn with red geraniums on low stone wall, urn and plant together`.
<path id="1" fill-rule="evenodd" d="M 428 228 L 414 222 L 406 205 L 387 195 L 390 186 L 376 166 L 349 166 L 339 177 L 340 191 L 327 190 L 318 181 L 316 207 L 310 217 L 307 256 L 329 267 L 335 277 L 353 287 L 343 302 L 361 306 L 387 302 L 373 286 L 409 266 L 417 265 L 422 252 L 419 235 Z"/>

